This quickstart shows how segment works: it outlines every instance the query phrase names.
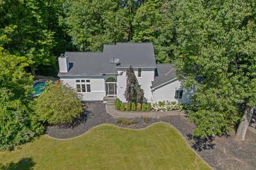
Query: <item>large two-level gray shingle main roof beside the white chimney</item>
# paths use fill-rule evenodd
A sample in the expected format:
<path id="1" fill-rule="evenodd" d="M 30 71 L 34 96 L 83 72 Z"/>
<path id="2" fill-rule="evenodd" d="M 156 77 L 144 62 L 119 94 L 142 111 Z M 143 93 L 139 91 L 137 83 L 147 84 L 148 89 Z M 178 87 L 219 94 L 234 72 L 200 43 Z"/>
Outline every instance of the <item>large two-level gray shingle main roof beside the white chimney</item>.
<path id="1" fill-rule="evenodd" d="M 65 75 L 101 75 L 117 73 L 117 67 L 156 68 L 152 43 L 116 43 L 104 45 L 103 53 L 66 52 L 70 69 Z M 110 58 L 118 58 L 119 65 L 110 64 Z"/>

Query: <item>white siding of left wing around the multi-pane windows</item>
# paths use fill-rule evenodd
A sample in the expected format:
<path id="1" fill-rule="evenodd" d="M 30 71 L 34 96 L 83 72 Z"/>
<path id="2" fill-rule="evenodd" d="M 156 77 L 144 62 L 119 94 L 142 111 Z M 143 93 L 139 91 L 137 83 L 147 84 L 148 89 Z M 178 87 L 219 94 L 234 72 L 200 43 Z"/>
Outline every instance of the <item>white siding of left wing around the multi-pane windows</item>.
<path id="1" fill-rule="evenodd" d="M 77 79 L 90 79 L 91 82 L 91 92 L 81 93 L 82 100 L 103 100 L 106 96 L 106 79 L 113 77 L 116 79 L 116 74 L 107 74 L 104 76 L 74 76 L 74 77 L 60 77 L 64 84 L 74 88 L 76 90 L 76 80 Z"/>

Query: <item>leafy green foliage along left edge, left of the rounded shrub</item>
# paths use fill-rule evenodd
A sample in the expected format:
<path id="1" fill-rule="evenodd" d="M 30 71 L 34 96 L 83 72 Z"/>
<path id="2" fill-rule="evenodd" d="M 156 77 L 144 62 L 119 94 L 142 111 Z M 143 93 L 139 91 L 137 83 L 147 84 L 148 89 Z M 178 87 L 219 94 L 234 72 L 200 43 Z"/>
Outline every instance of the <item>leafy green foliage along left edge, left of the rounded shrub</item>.
<path id="1" fill-rule="evenodd" d="M 13 149 L 44 132 L 33 114 L 32 76 L 25 72 L 26 57 L 0 47 L 0 150 Z"/>

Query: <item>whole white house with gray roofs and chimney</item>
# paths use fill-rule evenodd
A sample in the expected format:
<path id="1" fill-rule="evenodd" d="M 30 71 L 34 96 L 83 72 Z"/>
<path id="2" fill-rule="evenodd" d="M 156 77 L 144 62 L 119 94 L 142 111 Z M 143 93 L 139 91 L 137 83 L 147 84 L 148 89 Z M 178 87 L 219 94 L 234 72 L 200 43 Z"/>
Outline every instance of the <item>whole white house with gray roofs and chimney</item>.
<path id="1" fill-rule="evenodd" d="M 133 66 L 145 102 L 188 102 L 191 91 L 182 88 L 171 64 L 156 64 L 152 43 L 104 45 L 102 53 L 66 52 L 59 57 L 58 76 L 81 93 L 83 100 L 116 96 L 125 102 L 125 71 Z"/>

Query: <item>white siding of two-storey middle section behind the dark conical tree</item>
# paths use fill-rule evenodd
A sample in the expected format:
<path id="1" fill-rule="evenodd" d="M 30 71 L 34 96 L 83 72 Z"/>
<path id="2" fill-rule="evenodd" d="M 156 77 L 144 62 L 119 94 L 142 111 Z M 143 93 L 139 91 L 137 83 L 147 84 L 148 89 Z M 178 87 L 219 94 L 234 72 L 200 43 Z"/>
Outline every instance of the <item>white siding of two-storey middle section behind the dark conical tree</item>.
<path id="1" fill-rule="evenodd" d="M 124 98 L 124 92 L 126 89 L 126 69 L 117 69 L 117 97 L 125 102 L 126 99 Z M 123 72 L 122 75 L 120 73 Z M 151 88 L 152 86 L 152 81 L 154 81 L 155 77 L 155 69 L 141 69 L 141 77 L 138 78 L 138 69 L 134 69 L 135 75 L 138 79 L 139 85 L 141 85 L 141 88 L 144 90 L 144 97 L 146 102 L 151 102 L 152 101 L 152 93 L 151 93 Z"/>

